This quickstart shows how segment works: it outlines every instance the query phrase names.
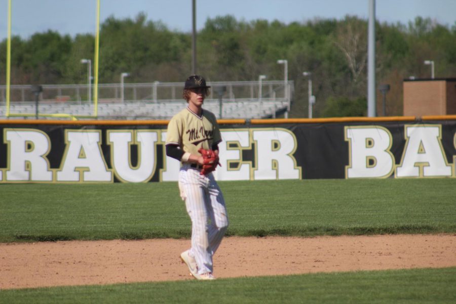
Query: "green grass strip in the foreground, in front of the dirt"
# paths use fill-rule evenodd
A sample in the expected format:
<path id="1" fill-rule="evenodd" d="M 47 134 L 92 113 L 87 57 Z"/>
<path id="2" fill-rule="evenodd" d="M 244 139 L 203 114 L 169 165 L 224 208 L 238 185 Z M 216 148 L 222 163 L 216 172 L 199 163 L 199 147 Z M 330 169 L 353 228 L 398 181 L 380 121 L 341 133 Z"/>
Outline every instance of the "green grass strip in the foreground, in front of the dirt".
<path id="1" fill-rule="evenodd" d="M 0 291 L 2 303 L 454 303 L 456 268 Z"/>

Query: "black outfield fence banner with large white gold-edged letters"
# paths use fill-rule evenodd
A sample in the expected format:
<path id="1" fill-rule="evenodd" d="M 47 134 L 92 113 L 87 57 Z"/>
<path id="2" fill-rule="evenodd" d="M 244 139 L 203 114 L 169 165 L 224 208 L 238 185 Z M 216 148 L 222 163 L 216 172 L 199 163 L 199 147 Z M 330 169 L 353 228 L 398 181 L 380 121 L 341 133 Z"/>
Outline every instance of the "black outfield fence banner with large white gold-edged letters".
<path id="1" fill-rule="evenodd" d="M 0 182 L 176 181 L 167 121 L 0 122 Z M 217 180 L 455 177 L 456 120 L 221 123 Z"/>

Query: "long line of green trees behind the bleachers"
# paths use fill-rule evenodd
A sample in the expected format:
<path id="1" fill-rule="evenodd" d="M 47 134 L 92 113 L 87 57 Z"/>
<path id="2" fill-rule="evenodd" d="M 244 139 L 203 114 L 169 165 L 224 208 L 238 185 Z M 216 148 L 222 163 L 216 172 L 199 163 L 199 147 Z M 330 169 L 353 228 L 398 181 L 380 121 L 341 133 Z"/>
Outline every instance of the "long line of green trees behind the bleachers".
<path id="1" fill-rule="evenodd" d="M 376 82 L 389 84 L 387 116 L 402 115 L 402 82 L 430 78 L 425 60 L 435 62 L 436 78 L 456 77 L 456 23 L 451 27 L 416 17 L 407 25 L 376 23 Z M 12 37 L 11 84 L 85 84 L 94 57 L 94 34 L 74 37 L 56 31 Z M 0 83 L 6 82 L 6 39 L 0 43 Z M 171 31 L 162 22 L 109 17 L 100 25 L 99 83 L 183 82 L 192 71 L 192 34 Z M 316 96 L 314 117 L 365 116 L 367 111 L 367 20 L 236 20 L 208 18 L 197 33 L 197 72 L 208 81 L 252 81 L 260 74 L 294 82 L 290 117 L 307 117 L 308 78 Z M 377 113 L 382 115 L 377 90 Z"/>

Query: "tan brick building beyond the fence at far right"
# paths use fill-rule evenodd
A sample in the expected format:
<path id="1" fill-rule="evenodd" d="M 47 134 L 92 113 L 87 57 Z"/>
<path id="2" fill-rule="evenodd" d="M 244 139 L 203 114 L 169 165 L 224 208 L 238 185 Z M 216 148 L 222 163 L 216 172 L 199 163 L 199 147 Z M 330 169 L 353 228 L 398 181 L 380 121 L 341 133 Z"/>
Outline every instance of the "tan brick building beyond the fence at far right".
<path id="1" fill-rule="evenodd" d="M 404 79 L 404 116 L 456 114 L 456 78 Z"/>

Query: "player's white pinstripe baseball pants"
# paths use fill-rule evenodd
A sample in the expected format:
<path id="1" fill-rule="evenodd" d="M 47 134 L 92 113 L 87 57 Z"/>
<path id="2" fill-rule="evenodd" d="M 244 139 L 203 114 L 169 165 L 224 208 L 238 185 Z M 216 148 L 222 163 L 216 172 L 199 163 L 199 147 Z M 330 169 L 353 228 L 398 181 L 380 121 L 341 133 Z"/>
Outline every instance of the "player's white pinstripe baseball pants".
<path id="1" fill-rule="evenodd" d="M 204 176 L 200 170 L 183 164 L 179 171 L 180 195 L 185 200 L 192 220 L 192 248 L 198 273 L 213 271 L 212 256 L 228 227 L 225 201 L 212 173 Z"/>

